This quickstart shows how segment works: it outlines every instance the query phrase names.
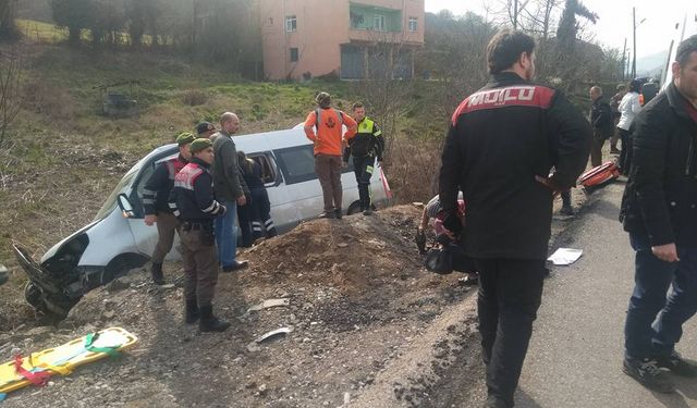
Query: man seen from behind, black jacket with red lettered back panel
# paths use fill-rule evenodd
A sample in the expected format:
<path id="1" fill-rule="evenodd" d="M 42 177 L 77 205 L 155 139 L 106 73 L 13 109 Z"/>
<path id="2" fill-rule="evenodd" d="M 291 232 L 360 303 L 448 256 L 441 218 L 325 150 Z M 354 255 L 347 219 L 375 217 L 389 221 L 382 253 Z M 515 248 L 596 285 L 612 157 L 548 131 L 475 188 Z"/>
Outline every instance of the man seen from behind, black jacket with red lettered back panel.
<path id="1" fill-rule="evenodd" d="M 478 318 L 487 364 L 486 407 L 512 407 L 540 306 L 552 199 L 583 172 L 588 121 L 559 91 L 530 82 L 535 40 L 504 29 L 487 46 L 492 78 L 452 116 L 442 154 L 443 224 L 479 271 Z M 550 175 L 550 171 L 554 173 Z"/>

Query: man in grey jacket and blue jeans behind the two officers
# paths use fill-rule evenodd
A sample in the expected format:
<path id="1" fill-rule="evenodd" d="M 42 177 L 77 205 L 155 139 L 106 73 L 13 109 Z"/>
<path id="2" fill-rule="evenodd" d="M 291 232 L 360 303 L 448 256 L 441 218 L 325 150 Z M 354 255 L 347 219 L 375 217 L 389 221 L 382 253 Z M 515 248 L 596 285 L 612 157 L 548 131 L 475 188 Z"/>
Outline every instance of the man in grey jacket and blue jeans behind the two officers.
<path id="1" fill-rule="evenodd" d="M 232 135 L 240 128 L 240 119 L 232 112 L 225 112 L 220 116 L 220 132 L 210 137 L 213 140 L 216 158 L 212 172 L 213 188 L 216 198 L 225 206 L 228 211 L 216 219 L 216 244 L 222 271 L 232 272 L 248 264 L 247 261 L 235 259 L 237 206 L 245 206 L 247 199 L 244 195 L 244 180 L 237 166 L 237 150 L 235 143 L 232 141 Z"/>

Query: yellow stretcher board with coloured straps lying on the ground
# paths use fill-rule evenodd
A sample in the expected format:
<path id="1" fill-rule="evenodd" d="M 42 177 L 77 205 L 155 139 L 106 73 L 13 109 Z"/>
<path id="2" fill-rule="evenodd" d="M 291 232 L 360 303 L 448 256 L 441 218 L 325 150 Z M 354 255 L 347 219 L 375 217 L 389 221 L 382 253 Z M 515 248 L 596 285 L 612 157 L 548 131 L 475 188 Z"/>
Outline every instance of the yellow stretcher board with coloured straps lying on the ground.
<path id="1" fill-rule="evenodd" d="M 133 346 L 137 341 L 136 336 L 121 327 L 109 327 L 59 347 L 20 357 L 20 369 L 17 369 L 16 359 L 0 366 L 0 394 L 32 384 L 32 381 L 21 371 L 28 372 L 29 376 L 39 379 L 56 374 L 68 375 L 75 368 L 122 351 Z"/>

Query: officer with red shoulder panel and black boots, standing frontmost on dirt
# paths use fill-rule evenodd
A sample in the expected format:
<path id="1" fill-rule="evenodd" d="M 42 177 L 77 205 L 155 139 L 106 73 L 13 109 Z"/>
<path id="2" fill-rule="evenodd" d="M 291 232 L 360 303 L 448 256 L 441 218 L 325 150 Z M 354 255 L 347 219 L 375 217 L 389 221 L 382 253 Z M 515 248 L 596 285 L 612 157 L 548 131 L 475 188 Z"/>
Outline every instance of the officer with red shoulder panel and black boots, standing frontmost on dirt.
<path id="1" fill-rule="evenodd" d="M 212 143 L 198 138 L 191 145 L 192 161 L 176 174 L 170 206 L 182 221 L 181 240 L 186 281 L 186 323 L 199 320 L 201 332 L 222 332 L 230 323 L 213 316 L 212 299 L 218 283 L 218 256 L 213 219 L 225 213 L 225 207 L 213 197 L 210 165 Z"/>

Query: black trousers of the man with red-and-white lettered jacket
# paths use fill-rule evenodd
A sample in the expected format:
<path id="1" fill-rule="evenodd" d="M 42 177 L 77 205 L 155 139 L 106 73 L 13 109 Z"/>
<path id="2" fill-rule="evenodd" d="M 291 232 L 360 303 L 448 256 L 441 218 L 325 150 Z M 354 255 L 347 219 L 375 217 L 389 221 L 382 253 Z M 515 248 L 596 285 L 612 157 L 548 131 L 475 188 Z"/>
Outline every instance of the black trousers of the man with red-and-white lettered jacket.
<path id="1" fill-rule="evenodd" d="M 513 406 L 533 321 L 542 299 L 545 260 L 475 259 L 479 272 L 477 314 L 487 388 Z"/>

